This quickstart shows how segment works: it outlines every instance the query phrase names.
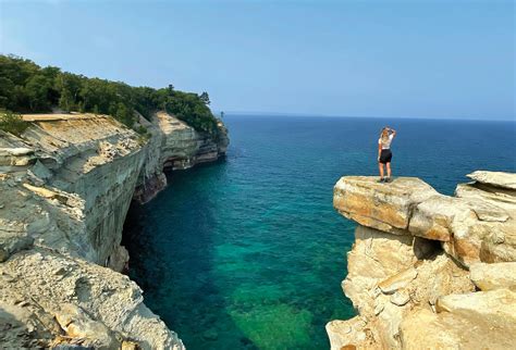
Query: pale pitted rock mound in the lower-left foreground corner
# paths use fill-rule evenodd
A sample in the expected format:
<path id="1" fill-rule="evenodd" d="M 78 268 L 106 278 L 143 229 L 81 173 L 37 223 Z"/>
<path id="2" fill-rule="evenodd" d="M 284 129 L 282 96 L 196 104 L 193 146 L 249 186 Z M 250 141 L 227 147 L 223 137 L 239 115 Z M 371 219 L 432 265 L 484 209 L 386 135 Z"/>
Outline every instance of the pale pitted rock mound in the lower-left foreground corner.
<path id="1" fill-rule="evenodd" d="M 145 307 L 138 286 L 110 268 L 33 247 L 0 264 L 0 283 L 2 348 L 183 348 Z"/>

